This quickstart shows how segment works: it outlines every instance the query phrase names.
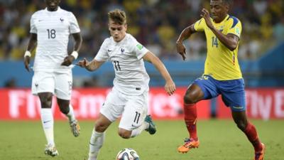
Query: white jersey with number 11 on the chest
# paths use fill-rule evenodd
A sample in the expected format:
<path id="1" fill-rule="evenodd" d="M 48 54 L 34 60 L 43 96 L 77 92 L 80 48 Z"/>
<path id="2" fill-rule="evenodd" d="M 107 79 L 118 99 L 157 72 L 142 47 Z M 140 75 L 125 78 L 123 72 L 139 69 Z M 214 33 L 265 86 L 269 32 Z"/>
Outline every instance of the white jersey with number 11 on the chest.
<path id="1" fill-rule="evenodd" d="M 102 43 L 95 60 L 110 60 L 114 65 L 114 87 L 126 95 L 141 95 L 149 90 L 149 76 L 146 73 L 143 56 L 148 49 L 136 38 L 126 34 L 119 43 L 109 37 Z"/>

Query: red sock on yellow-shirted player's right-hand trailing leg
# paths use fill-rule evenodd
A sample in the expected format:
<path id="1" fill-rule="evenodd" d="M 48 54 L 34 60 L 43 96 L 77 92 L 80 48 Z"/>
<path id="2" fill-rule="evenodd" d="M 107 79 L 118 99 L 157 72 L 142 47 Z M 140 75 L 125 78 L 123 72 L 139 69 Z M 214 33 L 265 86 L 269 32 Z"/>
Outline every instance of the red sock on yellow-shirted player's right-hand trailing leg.
<path id="1" fill-rule="evenodd" d="M 258 139 L 258 134 L 256 132 L 256 127 L 253 126 L 250 122 L 246 126 L 246 129 L 244 129 L 244 133 L 246 134 L 246 137 L 248 137 L 251 144 L 253 144 L 254 151 L 258 152 L 262 150 L 261 141 Z"/>

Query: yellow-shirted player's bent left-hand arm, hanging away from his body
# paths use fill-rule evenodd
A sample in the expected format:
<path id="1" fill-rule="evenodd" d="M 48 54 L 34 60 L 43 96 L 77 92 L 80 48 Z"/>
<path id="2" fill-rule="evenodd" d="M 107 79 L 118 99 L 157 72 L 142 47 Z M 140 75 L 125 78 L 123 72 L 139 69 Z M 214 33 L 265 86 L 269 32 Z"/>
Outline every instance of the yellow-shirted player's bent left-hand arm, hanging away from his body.
<path id="1" fill-rule="evenodd" d="M 182 59 L 185 60 L 185 46 L 182 44 L 182 41 L 184 41 L 185 39 L 189 38 L 192 33 L 195 33 L 195 28 L 193 27 L 194 24 L 188 26 L 187 28 L 185 28 L 182 33 L 180 33 L 180 36 L 178 37 L 178 40 L 176 41 L 176 47 L 177 47 L 177 51 L 180 55 L 182 55 Z"/>

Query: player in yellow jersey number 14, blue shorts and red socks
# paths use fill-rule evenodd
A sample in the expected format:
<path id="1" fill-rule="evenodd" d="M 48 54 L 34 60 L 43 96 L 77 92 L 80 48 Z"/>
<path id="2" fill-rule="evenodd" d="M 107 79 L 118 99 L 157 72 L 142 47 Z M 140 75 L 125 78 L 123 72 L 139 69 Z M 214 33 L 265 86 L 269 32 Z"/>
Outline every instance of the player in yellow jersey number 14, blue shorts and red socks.
<path id="1" fill-rule="evenodd" d="M 182 41 L 196 32 L 204 32 L 207 39 L 204 74 L 187 88 L 184 96 L 185 124 L 190 138 L 185 139 L 185 144 L 178 147 L 178 151 L 186 153 L 200 145 L 197 137 L 195 104 L 200 100 L 222 95 L 224 104 L 231 108 L 234 122 L 253 144 L 254 159 L 261 160 L 265 146 L 258 139 L 256 128 L 246 117 L 244 80 L 237 59 L 241 21 L 228 15 L 228 0 L 211 0 L 210 7 L 211 17 L 207 9 L 202 9 L 202 18 L 185 28 L 176 42 L 178 53 L 185 60 L 185 46 Z"/>

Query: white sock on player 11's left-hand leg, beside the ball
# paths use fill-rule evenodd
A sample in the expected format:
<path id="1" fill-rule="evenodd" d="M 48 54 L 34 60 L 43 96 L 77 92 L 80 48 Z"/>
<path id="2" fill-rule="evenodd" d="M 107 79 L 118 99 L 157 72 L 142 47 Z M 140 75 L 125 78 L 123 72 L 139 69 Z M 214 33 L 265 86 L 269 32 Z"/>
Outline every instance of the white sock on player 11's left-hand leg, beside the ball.
<path id="1" fill-rule="evenodd" d="M 89 139 L 89 159 L 97 160 L 99 149 L 102 148 L 104 143 L 105 132 L 96 132 L 93 129 L 91 139 Z"/>

